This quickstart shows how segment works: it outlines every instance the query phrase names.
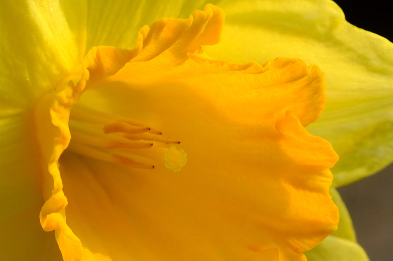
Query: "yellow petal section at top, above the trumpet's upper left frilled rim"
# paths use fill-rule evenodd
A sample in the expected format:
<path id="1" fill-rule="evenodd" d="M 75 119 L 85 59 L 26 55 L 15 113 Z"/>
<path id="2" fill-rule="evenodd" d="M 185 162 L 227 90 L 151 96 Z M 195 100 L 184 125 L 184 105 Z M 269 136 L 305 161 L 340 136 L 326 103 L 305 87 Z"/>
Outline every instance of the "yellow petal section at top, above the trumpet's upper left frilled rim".
<path id="1" fill-rule="evenodd" d="M 187 18 L 206 0 L 87 1 L 87 49 L 133 48 L 139 29 L 163 17 Z"/>

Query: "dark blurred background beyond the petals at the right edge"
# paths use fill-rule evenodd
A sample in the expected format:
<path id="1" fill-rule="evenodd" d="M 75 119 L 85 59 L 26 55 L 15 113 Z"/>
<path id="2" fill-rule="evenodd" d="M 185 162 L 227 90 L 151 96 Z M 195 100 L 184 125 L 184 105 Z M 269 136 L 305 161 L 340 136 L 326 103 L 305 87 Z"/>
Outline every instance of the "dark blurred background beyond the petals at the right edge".
<path id="1" fill-rule="evenodd" d="M 335 1 L 351 24 L 393 42 L 391 1 Z M 393 86 L 392 86 L 393 88 Z M 370 261 L 393 261 L 393 165 L 338 189 Z"/>

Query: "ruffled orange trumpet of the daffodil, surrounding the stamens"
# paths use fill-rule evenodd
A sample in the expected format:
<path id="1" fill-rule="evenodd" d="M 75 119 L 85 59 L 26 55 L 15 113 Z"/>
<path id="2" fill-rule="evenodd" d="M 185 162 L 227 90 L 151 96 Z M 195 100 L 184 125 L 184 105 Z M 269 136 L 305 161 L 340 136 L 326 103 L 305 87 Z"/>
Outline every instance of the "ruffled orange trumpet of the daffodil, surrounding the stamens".
<path id="1" fill-rule="evenodd" d="M 73 97 L 84 82 L 90 87 L 72 121 L 81 121 L 88 108 L 98 121 L 111 113 L 151 127 L 120 131 L 110 125 L 100 137 L 157 128 L 180 140 L 177 146 L 187 153 L 180 171 L 164 166 L 164 153 L 155 169 L 105 163 L 89 151 L 89 157 L 78 155 L 73 143 L 87 141 L 77 138 L 59 159 L 62 187 L 56 160 L 69 142 L 62 125 L 69 110 L 52 107 L 62 142 L 55 140 L 49 160 L 55 190 L 41 222 L 47 230 L 57 229 L 66 260 L 97 253 L 113 260 L 304 261 L 301 252 L 336 229 L 329 167 L 337 155 L 329 142 L 304 128 L 323 108 L 323 74 L 298 59 L 260 66 L 205 57 L 199 45 L 218 40 L 221 19 L 221 11 L 209 5 L 188 20 L 165 19 L 142 28 L 143 47 L 106 79 L 112 70 L 105 70 L 106 59 L 93 51 L 97 55 L 85 59 L 92 62 L 84 71 L 89 78 L 69 85 L 74 93 L 65 95 Z M 75 101 L 65 100 L 61 104 Z M 90 123 L 79 124 L 95 135 Z M 154 144 L 144 154 L 155 152 Z M 133 149 L 130 159 L 136 154 Z M 67 223 L 61 189 L 68 196 Z"/>

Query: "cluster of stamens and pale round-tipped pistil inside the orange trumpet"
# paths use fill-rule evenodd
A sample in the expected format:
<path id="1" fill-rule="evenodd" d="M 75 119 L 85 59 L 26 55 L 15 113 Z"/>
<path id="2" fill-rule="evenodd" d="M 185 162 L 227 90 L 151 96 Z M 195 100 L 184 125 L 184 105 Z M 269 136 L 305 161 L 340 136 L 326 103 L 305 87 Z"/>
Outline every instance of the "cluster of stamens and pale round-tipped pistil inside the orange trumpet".
<path id="1" fill-rule="evenodd" d="M 77 154 L 110 163 L 154 169 L 155 162 L 179 171 L 186 164 L 184 150 L 146 123 L 119 118 L 76 104 L 69 119 L 71 142 L 67 148 Z"/>

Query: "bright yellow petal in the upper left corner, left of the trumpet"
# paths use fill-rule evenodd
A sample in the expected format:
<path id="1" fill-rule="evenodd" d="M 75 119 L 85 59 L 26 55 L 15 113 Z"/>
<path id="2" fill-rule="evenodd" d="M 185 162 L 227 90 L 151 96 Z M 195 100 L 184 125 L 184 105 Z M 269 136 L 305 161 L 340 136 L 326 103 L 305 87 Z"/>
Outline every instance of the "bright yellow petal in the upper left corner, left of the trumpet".
<path id="1" fill-rule="evenodd" d="M 28 108 L 70 73 L 83 53 L 56 1 L 5 1 L 0 17 L 0 108 Z"/>

